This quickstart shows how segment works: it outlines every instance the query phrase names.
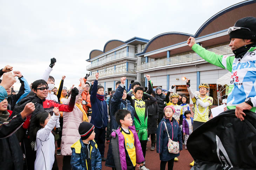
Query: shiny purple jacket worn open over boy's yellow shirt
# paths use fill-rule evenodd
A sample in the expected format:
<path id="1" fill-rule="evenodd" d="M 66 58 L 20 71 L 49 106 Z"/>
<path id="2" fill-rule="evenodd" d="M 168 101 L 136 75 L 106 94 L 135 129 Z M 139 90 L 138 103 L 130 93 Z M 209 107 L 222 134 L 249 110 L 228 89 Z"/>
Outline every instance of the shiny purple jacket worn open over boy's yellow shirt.
<path id="1" fill-rule="evenodd" d="M 129 130 L 132 131 L 134 135 L 134 146 L 136 148 L 136 163 L 142 163 L 145 160 L 142 153 L 139 137 L 136 133 L 134 126 L 129 126 Z M 114 132 L 111 133 L 111 136 L 112 136 L 111 144 L 113 147 L 115 168 L 116 170 L 127 170 L 124 136 L 120 132 L 120 128 L 117 128 L 117 130 L 114 130 Z"/>

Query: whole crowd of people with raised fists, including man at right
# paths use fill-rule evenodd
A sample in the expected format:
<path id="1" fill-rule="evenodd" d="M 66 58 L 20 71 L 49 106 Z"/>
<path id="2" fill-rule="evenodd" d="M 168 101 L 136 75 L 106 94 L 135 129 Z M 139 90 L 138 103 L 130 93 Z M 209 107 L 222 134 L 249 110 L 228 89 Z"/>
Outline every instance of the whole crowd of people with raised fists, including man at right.
<path id="1" fill-rule="evenodd" d="M 241 121 L 243 110 L 255 112 L 256 108 L 256 92 L 247 88 L 256 79 L 255 25 L 255 17 L 246 17 L 228 29 L 235 56 L 217 55 L 196 44 L 193 37 L 187 40 L 206 61 L 236 72 L 224 110 L 236 109 Z M 153 89 L 150 75 L 146 75 L 147 89 L 136 81 L 125 87 L 126 77 L 121 77 L 116 89 L 107 93 L 98 85 L 99 73 L 91 83 L 87 82 L 90 74 L 86 74 L 79 79 L 79 87 L 73 85 L 71 89 L 63 86 L 63 75 L 57 88 L 50 76 L 55 64 L 56 59 L 50 59 L 42 78 L 30 85 L 12 66 L 0 70 L 0 169 L 56 170 L 56 155 L 63 155 L 63 170 L 98 170 L 102 161 L 116 170 L 149 170 L 146 146 L 151 141 L 150 150 L 160 156 L 160 169 L 164 170 L 168 162 L 170 170 L 178 161 L 182 144 L 187 149 L 189 135 L 209 120 L 213 98 L 208 96 L 207 83 L 201 83 L 194 92 L 190 79 L 186 79 L 193 102 L 191 117 L 188 96 L 175 93 L 175 85 L 167 94 L 161 87 Z M 17 94 L 13 90 L 15 77 L 21 83 Z"/>

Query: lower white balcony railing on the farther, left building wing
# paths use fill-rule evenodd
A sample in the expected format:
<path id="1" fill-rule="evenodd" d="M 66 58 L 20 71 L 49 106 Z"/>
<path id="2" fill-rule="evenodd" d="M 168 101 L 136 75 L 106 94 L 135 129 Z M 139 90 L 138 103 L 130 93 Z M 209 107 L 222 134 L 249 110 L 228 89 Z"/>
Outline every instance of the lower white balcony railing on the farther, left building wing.
<path id="1" fill-rule="evenodd" d="M 137 74 L 135 69 L 118 69 L 118 70 L 113 70 L 113 71 L 109 71 L 109 72 L 102 72 L 99 75 L 99 79 L 103 78 L 103 77 L 108 77 L 108 76 L 115 76 L 115 75 L 119 75 L 119 74 Z M 95 79 L 95 74 L 90 75 L 88 77 L 87 80 L 90 79 Z"/>

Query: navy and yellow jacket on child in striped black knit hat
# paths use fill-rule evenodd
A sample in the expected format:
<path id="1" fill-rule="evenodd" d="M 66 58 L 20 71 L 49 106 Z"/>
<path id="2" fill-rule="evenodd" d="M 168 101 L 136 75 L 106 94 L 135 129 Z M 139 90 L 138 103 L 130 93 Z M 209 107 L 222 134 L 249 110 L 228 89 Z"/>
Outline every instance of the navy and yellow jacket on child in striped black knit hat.
<path id="1" fill-rule="evenodd" d="M 91 170 L 101 170 L 101 155 L 100 151 L 97 148 L 97 144 L 94 140 L 90 140 L 90 159 L 91 159 Z M 72 155 L 71 155 L 71 168 L 72 170 L 87 170 L 86 162 L 86 153 L 85 145 L 83 144 L 82 139 L 80 138 L 72 146 Z"/>

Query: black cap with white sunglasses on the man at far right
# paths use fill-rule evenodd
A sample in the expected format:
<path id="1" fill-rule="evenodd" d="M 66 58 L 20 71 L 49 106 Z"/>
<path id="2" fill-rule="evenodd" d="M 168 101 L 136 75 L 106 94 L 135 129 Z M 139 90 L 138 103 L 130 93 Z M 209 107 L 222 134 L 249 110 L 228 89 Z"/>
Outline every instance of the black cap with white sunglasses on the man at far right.
<path id="1" fill-rule="evenodd" d="M 256 18 L 249 16 L 236 21 L 234 27 L 243 27 L 241 29 L 229 28 L 229 37 L 231 38 L 241 38 L 241 39 L 254 39 L 256 40 Z M 250 30 L 249 30 L 250 29 Z M 230 30 L 232 30 L 230 32 Z"/>

